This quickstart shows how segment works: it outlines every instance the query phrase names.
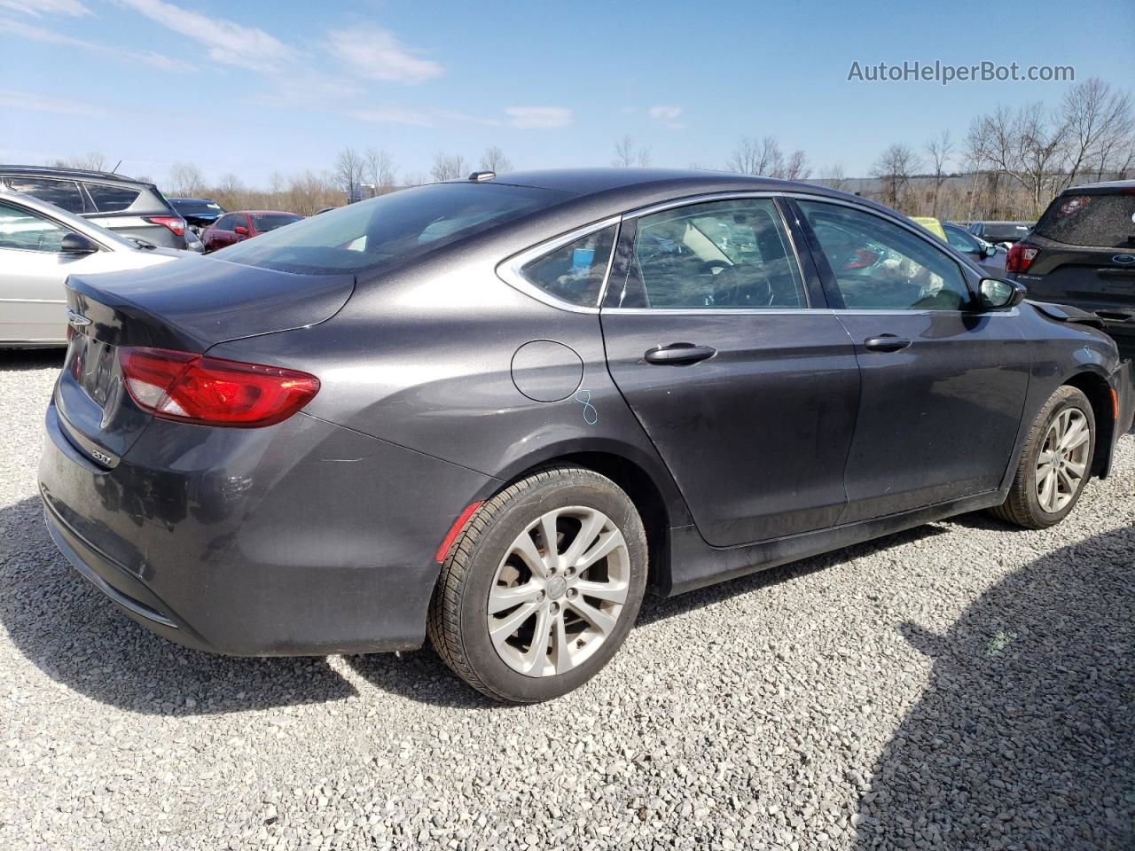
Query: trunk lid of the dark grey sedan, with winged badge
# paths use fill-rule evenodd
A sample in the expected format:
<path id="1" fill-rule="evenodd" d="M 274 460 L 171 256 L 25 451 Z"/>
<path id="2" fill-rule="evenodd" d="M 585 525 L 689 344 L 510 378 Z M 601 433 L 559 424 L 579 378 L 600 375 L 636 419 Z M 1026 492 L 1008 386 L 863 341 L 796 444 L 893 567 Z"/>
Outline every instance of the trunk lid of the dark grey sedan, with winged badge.
<path id="1" fill-rule="evenodd" d="M 66 286 L 72 339 L 53 397 L 60 428 L 112 467 L 153 419 L 126 391 L 120 347 L 204 353 L 218 343 L 322 322 L 353 289 L 352 275 L 294 275 L 193 255 L 73 276 Z"/>

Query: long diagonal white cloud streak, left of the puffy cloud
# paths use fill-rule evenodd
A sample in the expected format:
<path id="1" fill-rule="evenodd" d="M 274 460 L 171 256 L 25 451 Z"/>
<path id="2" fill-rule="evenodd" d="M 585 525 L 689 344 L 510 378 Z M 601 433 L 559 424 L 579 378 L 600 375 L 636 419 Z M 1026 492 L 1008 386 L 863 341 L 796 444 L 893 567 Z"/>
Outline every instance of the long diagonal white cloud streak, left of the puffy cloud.
<path id="1" fill-rule="evenodd" d="M 213 60 L 225 65 L 270 70 L 300 57 L 299 51 L 258 27 L 243 26 L 225 18 L 205 17 L 165 0 L 118 2 L 176 33 L 201 42 Z"/>

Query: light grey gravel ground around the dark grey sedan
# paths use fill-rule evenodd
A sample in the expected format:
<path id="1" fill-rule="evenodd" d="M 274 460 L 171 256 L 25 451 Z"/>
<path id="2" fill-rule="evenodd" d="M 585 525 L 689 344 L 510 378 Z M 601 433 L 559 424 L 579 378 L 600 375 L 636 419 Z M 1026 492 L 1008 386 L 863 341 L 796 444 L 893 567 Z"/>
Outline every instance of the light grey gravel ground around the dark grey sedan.
<path id="1" fill-rule="evenodd" d="M 1060 526 L 966 516 L 674 600 L 503 708 L 431 650 L 229 659 L 119 615 L 0 353 L 0 846 L 1135 848 L 1135 438 Z"/>

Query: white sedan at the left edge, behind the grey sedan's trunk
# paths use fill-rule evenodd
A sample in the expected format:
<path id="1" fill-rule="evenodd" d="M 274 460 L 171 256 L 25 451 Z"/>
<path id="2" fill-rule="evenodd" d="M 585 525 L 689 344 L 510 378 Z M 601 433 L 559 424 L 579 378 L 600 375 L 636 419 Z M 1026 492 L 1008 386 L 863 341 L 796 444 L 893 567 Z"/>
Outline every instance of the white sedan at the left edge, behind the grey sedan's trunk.
<path id="1" fill-rule="evenodd" d="M 0 347 L 67 344 L 67 276 L 142 269 L 184 255 L 0 191 Z"/>

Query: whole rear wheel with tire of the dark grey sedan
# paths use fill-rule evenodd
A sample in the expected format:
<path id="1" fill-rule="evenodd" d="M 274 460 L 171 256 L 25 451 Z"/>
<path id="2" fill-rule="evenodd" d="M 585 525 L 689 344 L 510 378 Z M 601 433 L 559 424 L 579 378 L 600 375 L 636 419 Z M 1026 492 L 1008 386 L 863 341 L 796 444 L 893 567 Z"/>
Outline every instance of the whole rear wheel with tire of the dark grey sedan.
<path id="1" fill-rule="evenodd" d="M 427 631 L 445 664 L 488 697 L 549 700 L 619 650 L 646 574 L 646 532 L 627 494 L 591 470 L 547 467 L 465 524 L 442 566 Z"/>

